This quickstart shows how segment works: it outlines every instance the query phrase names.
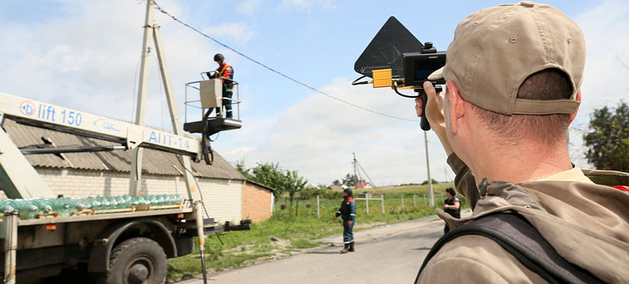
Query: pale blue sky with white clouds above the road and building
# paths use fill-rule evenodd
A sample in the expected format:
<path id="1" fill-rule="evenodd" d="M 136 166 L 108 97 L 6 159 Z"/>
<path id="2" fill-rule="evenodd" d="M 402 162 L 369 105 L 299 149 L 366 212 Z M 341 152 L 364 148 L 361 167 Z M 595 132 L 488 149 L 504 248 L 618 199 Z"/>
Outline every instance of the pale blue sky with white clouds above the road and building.
<path id="1" fill-rule="evenodd" d="M 181 120 L 184 84 L 214 70 L 223 53 L 240 82 L 242 129 L 212 143 L 231 163 L 280 163 L 313 184 L 329 185 L 353 172 L 353 153 L 373 182 L 427 180 L 424 133 L 413 99 L 391 89 L 351 86 L 354 62 L 389 16 L 421 42 L 445 50 L 465 16 L 502 1 L 156 0 L 181 21 L 290 77 L 334 97 L 391 116 L 351 107 L 266 70 L 203 38 L 159 11 L 166 61 Z M 589 114 L 613 107 L 629 91 L 629 3 L 548 1 L 573 18 L 586 37 L 583 103 L 571 126 L 570 153 L 587 168 L 583 130 Z M 0 0 L 0 92 L 132 121 L 137 95 L 146 1 Z M 152 55 L 146 123 L 172 129 Z M 189 89 L 189 99 L 195 99 Z M 428 132 L 430 172 L 453 180 L 445 152 Z"/>

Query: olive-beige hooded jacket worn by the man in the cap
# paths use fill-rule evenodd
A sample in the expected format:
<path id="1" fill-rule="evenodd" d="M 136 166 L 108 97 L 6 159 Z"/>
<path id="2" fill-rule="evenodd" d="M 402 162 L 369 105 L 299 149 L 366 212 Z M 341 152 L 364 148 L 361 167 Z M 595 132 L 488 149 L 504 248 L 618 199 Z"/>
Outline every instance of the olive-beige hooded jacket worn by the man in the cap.
<path id="1" fill-rule="evenodd" d="M 491 182 L 479 190 L 467 165 L 448 157 L 457 191 L 467 197 L 472 216 L 455 219 L 437 209 L 450 226 L 463 226 L 486 214 L 517 212 L 566 261 L 606 283 L 629 283 L 629 173 L 583 170 L 598 184 L 537 181 Z M 604 185 L 602 185 L 604 184 Z M 465 235 L 445 244 L 425 266 L 417 283 L 546 283 L 517 258 L 484 236 Z"/>

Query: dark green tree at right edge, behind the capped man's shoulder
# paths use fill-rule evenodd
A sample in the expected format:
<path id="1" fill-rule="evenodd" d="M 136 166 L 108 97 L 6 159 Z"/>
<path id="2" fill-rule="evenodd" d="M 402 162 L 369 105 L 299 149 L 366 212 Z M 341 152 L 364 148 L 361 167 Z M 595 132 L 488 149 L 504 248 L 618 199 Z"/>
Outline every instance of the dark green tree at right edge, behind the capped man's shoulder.
<path id="1" fill-rule="evenodd" d="M 595 168 L 629 172 L 629 105 L 603 107 L 590 114 L 590 132 L 583 135 L 586 158 Z"/>

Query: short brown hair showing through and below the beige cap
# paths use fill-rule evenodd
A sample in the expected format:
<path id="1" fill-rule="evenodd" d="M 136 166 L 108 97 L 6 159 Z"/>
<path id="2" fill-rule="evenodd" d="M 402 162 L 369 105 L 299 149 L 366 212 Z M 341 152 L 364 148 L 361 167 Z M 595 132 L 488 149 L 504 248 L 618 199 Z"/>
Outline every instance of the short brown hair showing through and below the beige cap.
<path id="1" fill-rule="evenodd" d="M 535 72 L 520 85 L 517 97 L 522 99 L 566 99 L 573 89 L 567 75 L 559 69 Z M 507 116 L 470 104 L 488 129 L 499 138 L 497 143 L 514 145 L 522 140 L 534 140 L 554 145 L 568 141 L 570 114 Z"/>

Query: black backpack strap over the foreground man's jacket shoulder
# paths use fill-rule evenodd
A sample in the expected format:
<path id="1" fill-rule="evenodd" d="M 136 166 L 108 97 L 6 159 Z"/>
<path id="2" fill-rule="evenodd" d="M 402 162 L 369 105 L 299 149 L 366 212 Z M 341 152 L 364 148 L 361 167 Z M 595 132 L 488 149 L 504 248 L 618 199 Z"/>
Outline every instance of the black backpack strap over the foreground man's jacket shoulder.
<path id="1" fill-rule="evenodd" d="M 469 234 L 492 239 L 549 283 L 603 283 L 588 271 L 559 256 L 534 226 L 515 213 L 490 214 L 442 236 L 428 252 L 415 282 L 417 283 L 426 264 L 441 246 L 458 236 Z"/>

